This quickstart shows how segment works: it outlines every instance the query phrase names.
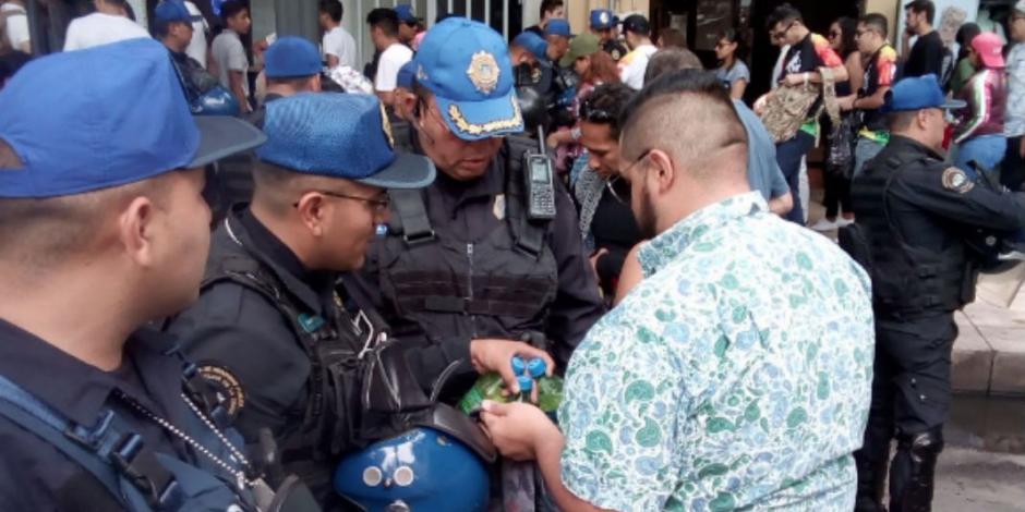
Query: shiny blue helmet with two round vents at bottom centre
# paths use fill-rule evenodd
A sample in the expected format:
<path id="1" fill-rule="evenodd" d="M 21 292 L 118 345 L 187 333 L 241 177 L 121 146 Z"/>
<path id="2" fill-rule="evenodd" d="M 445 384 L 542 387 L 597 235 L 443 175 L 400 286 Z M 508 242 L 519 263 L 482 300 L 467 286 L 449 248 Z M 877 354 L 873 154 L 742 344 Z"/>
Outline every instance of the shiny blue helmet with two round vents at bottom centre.
<path id="1" fill-rule="evenodd" d="M 458 483 L 459 491 L 453 492 Z M 487 508 L 484 460 L 441 430 L 415 427 L 342 458 L 335 490 L 367 512 L 470 512 Z"/>

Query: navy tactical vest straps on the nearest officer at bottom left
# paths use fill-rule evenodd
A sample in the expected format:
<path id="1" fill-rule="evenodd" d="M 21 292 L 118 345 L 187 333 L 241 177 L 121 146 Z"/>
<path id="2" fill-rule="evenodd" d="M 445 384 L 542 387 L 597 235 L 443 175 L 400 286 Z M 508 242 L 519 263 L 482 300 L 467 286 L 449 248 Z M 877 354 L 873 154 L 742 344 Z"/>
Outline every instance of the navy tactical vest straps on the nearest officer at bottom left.
<path id="1" fill-rule="evenodd" d="M 237 449 L 241 437 L 227 428 L 227 418 L 201 391 L 204 385 L 195 366 L 186 365 L 182 397 L 204 411 Z M 107 409 L 95 425 L 79 425 L 53 411 L 35 395 L 0 376 L 0 416 L 33 432 L 92 474 L 124 510 L 149 511 L 238 511 L 255 510 L 253 495 L 234 488 L 236 476 L 204 454 L 195 464 L 158 453 L 145 444 L 118 413 Z M 196 415 L 177 425 L 221 461 L 234 458 L 217 434 Z M 239 467 L 239 470 L 245 470 Z M 246 478 L 257 475 L 246 472 Z M 230 484 L 229 484 L 230 483 Z"/>

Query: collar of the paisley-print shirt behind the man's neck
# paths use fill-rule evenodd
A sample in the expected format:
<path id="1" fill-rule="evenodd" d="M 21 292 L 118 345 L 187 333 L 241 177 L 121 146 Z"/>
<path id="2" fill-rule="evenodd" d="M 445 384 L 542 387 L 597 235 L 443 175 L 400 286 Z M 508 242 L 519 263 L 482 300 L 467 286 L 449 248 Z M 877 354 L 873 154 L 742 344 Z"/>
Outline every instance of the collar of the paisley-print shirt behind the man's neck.
<path id="1" fill-rule="evenodd" d="M 651 277 L 673 263 L 680 253 L 710 230 L 743 217 L 769 211 L 758 192 L 748 192 L 706 206 L 644 244 L 638 259 L 644 277 Z"/>

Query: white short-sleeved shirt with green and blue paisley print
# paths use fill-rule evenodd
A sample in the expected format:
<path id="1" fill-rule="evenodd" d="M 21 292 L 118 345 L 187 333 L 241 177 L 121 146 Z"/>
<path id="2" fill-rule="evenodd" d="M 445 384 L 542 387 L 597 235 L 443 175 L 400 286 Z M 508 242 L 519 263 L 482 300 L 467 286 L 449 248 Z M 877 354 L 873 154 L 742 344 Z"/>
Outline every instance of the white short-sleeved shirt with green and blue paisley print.
<path id="1" fill-rule="evenodd" d="M 574 353 L 563 480 L 629 511 L 849 511 L 868 417 L 868 276 L 758 193 L 640 251 L 646 280 Z"/>

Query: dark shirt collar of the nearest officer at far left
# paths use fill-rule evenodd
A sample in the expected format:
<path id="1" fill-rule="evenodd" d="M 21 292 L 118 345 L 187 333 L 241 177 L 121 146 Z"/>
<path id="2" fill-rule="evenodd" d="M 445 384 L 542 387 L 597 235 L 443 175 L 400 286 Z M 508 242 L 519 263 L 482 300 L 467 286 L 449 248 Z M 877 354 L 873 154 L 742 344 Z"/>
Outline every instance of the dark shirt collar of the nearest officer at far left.
<path id="1" fill-rule="evenodd" d="M 140 371 L 140 379 L 149 390 L 172 389 L 168 382 L 177 382 L 182 373 L 180 359 L 167 356 L 173 350 L 172 338 L 140 330 L 125 342 L 122 366 L 134 364 L 145 368 Z M 3 319 L 0 319 L 0 374 L 79 425 L 94 425 L 107 407 L 110 394 L 121 388 L 117 371 L 104 371 Z M 137 397 L 131 389 L 121 391 L 153 411 L 162 410 L 154 407 L 153 399 L 168 403 L 176 397 L 174 393 Z"/>

